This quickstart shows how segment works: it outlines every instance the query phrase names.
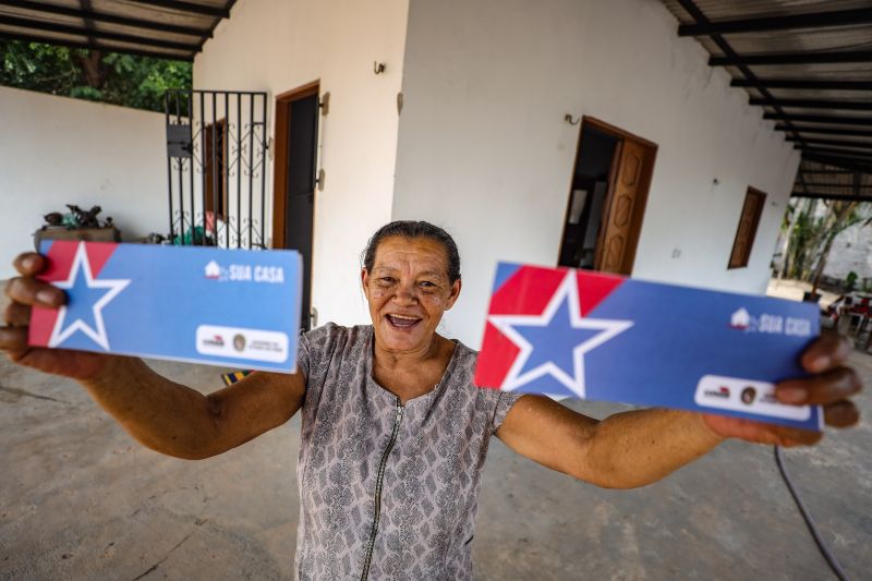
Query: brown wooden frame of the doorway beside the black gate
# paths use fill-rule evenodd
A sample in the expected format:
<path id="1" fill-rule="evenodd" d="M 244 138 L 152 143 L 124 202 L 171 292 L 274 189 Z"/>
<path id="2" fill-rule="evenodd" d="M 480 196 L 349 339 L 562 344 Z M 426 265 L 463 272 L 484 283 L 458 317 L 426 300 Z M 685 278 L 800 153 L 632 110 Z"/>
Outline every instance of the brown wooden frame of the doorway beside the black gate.
<path id="1" fill-rule="evenodd" d="M 320 95 L 320 80 L 287 90 L 276 96 L 276 114 L 272 137 L 272 247 L 284 247 L 286 195 L 288 189 L 288 122 L 291 116 L 291 102 L 303 97 Z M 320 113 L 318 113 L 320 114 Z M 317 141 L 317 136 L 315 137 Z M 312 216 L 313 239 L 315 216 Z M 312 253 L 315 253 L 314 240 Z"/>

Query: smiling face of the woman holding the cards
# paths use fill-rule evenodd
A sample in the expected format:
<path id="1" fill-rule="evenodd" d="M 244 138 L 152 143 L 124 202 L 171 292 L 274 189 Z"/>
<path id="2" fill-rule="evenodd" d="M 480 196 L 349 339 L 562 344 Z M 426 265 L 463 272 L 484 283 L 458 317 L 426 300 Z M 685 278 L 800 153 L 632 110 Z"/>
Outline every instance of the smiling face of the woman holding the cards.
<path id="1" fill-rule="evenodd" d="M 378 347 L 398 353 L 431 348 L 443 313 L 460 294 L 448 279 L 448 256 L 427 238 L 390 237 L 375 252 L 373 270 L 361 273 Z"/>

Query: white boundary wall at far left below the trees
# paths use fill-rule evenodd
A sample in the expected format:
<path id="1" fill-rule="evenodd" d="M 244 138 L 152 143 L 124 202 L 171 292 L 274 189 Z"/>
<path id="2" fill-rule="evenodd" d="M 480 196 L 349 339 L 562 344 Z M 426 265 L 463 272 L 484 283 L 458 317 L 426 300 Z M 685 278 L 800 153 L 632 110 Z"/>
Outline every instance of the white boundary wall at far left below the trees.
<path id="1" fill-rule="evenodd" d="M 49 211 L 99 205 L 123 240 L 166 232 L 164 116 L 0 87 L 0 279 Z"/>

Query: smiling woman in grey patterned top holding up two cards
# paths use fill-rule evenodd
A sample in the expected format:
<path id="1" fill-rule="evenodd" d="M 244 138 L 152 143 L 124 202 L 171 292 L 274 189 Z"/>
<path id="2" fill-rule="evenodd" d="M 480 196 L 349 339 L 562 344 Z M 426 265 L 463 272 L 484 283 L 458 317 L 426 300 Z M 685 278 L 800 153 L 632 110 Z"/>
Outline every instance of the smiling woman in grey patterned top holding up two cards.
<path id="1" fill-rule="evenodd" d="M 78 380 L 145 446 L 179 458 L 219 455 L 302 410 L 298 479 L 300 579 L 469 579 L 482 467 L 492 435 L 541 464 L 598 486 L 655 482 L 725 438 L 792 446 L 818 434 L 714 415 L 644 410 L 596 421 L 547 398 L 472 385 L 476 352 L 439 336 L 460 295 L 453 240 L 398 221 L 368 243 L 361 271 L 372 325 L 328 324 L 300 338 L 295 375 L 256 373 L 209 396 L 136 359 L 29 349 L 32 305 L 63 292 L 16 261 L 0 348 L 22 364 Z M 829 425 L 857 422 L 860 389 L 838 339 L 802 358 L 813 375 L 785 382 L 786 403 L 820 403 Z"/>

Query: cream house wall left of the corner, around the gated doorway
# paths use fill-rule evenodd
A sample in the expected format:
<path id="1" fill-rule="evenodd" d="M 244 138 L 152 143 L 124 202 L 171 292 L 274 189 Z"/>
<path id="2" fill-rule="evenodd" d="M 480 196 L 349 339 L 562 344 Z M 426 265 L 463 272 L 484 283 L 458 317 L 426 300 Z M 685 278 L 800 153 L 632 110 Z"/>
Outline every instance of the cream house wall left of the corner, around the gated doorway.
<path id="1" fill-rule="evenodd" d="M 194 62 L 196 88 L 269 92 L 270 134 L 276 95 L 317 80 L 330 93 L 320 126 L 325 189 L 315 196 L 319 324 L 370 320 L 360 253 L 390 219 L 407 10 L 408 0 L 243 0 Z M 386 63 L 384 74 L 373 61 Z M 271 161 L 267 175 L 271 226 Z"/>

